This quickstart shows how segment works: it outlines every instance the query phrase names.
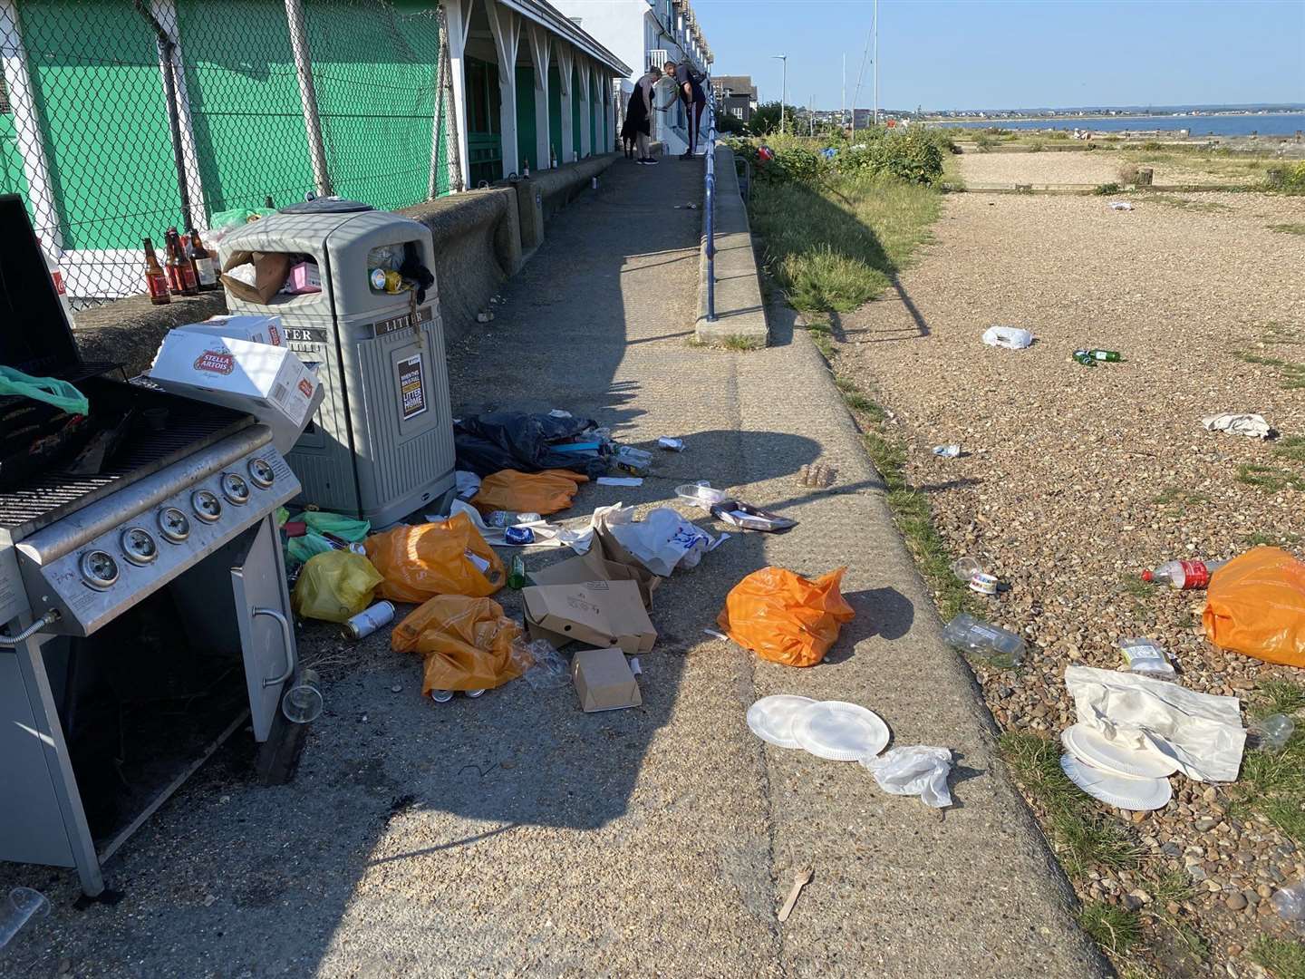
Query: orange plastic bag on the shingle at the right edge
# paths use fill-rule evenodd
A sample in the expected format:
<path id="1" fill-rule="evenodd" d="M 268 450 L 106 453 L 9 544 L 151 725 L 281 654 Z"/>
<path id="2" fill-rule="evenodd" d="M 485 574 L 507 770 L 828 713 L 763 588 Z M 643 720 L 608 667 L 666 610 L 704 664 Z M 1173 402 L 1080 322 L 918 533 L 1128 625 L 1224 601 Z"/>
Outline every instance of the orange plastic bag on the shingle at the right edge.
<path id="1" fill-rule="evenodd" d="M 1276 547 L 1232 559 L 1210 578 L 1201 620 L 1220 649 L 1305 667 L 1305 564 Z"/>

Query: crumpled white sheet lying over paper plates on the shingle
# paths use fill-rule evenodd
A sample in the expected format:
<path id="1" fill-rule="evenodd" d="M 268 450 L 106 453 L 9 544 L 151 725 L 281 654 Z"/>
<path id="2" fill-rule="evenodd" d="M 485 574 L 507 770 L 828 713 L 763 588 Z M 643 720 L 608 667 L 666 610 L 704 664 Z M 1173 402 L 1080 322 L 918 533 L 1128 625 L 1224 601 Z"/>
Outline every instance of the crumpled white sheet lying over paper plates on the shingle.
<path id="1" fill-rule="evenodd" d="M 1233 782 L 1246 730 L 1236 697 L 1197 693 L 1138 674 L 1071 666 L 1065 687 L 1078 723 L 1129 748 L 1154 748 L 1197 782 Z"/>

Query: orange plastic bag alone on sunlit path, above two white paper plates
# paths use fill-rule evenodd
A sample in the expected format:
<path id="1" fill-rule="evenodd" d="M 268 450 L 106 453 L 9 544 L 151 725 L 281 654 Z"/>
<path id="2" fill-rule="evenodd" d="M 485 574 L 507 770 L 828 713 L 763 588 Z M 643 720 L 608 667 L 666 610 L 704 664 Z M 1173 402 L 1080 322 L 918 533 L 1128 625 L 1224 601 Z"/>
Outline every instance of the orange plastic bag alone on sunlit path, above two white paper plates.
<path id="1" fill-rule="evenodd" d="M 843 600 L 838 568 L 808 581 L 783 568 L 762 568 L 735 585 L 716 621 L 762 659 L 786 666 L 816 666 L 838 640 L 843 623 L 856 616 Z"/>

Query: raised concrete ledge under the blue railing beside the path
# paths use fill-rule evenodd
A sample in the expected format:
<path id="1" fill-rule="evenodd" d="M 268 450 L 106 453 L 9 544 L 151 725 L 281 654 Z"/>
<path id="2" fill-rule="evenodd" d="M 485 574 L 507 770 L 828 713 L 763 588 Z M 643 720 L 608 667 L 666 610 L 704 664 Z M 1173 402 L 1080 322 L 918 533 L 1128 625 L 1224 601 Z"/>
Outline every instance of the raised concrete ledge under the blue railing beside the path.
<path id="1" fill-rule="evenodd" d="M 733 150 L 716 146 L 715 319 L 709 319 L 707 313 L 707 211 L 703 209 L 694 333 L 702 343 L 763 347 L 770 339 L 766 304 L 761 298 L 748 208 L 739 193 L 733 159 Z"/>

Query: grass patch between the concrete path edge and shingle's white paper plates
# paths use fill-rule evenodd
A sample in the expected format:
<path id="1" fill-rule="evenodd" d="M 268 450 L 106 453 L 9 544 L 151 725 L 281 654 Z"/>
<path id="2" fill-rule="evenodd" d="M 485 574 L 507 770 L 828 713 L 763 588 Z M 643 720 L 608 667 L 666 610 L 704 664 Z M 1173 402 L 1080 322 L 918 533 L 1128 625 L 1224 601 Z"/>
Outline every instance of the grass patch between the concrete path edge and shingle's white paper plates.
<path id="1" fill-rule="evenodd" d="M 1112 869 L 1137 865 L 1138 848 L 1124 825 L 1061 770 L 1058 740 L 1007 731 L 998 747 L 1017 781 L 1045 809 L 1052 848 L 1070 877 L 1082 877 L 1094 865 Z"/>

